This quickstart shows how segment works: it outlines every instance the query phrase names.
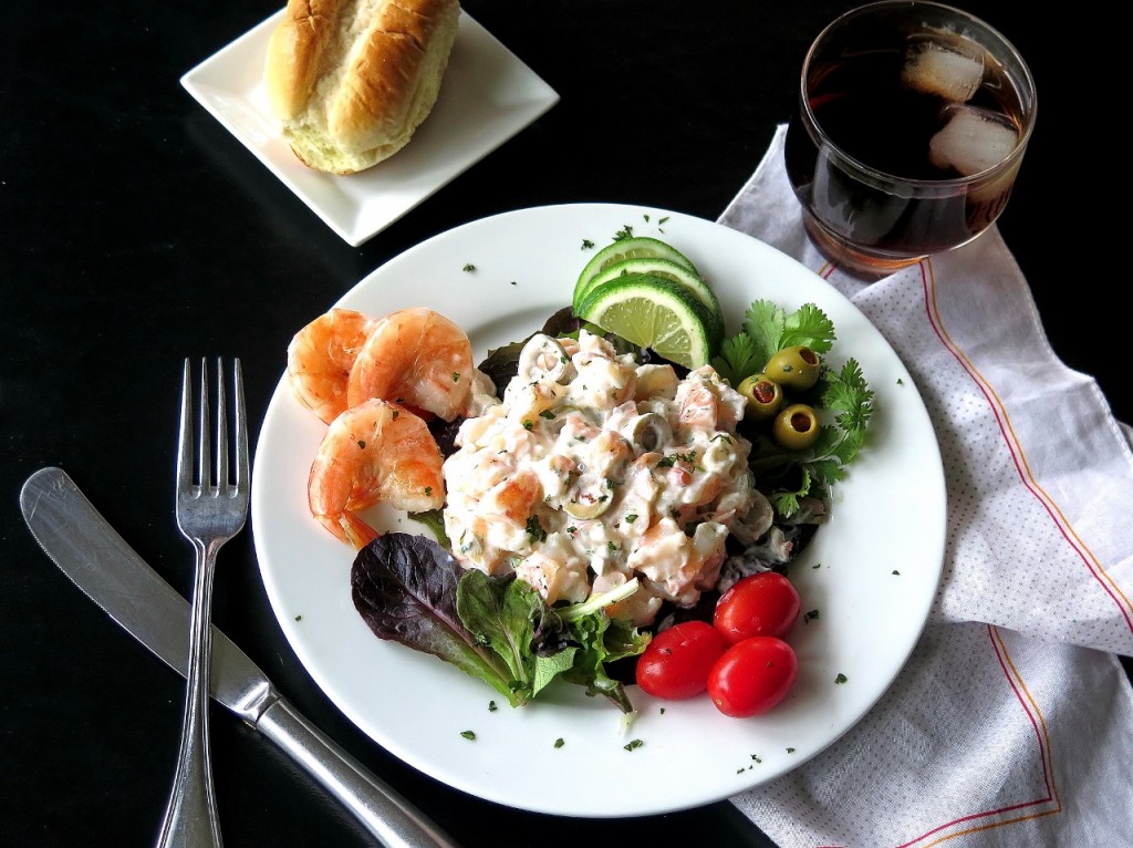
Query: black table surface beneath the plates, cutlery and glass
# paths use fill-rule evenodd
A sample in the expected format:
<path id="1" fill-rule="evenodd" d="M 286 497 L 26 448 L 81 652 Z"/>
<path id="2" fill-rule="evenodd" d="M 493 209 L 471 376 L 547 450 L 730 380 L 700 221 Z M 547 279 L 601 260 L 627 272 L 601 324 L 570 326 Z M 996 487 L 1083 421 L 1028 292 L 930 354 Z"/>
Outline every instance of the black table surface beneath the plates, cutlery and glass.
<path id="1" fill-rule="evenodd" d="M 184 681 L 87 601 L 35 545 L 17 494 L 65 468 L 188 595 L 172 514 L 173 421 L 187 356 L 239 356 L 258 431 L 291 334 L 375 268 L 454 226 L 576 201 L 715 219 L 794 102 L 810 40 L 847 0 L 466 0 L 562 96 L 542 119 L 372 240 L 325 227 L 180 86 L 281 0 L 56 0 L 6 8 L 0 31 L 0 841 L 152 843 L 169 791 Z M 1122 421 L 1133 393 L 1087 227 L 1106 190 L 1071 132 L 1062 67 L 1089 24 L 1006 0 L 966 7 L 1034 73 L 1038 129 L 999 222 L 1054 350 L 1094 375 Z M 1026 12 L 1025 15 L 1022 12 Z M 1090 180 L 1084 183 L 1084 180 Z M 1097 181 L 1093 181 L 1097 180 Z M 1100 204 L 1099 204 L 1100 205 Z M 1084 285 L 1083 285 L 1084 283 Z M 1118 315 L 1121 313 L 1117 313 Z M 460 845 L 770 842 L 731 804 L 628 820 L 545 816 L 448 788 L 355 728 L 308 677 L 242 533 L 224 548 L 214 621 L 282 694 Z M 412 697 L 412 694 L 406 695 Z M 214 705 L 216 791 L 230 846 L 374 841 L 270 741 Z M 706 740 L 710 744 L 710 740 Z M 645 774 L 596 774 L 617 791 Z M 554 775 L 547 775 L 554 792 Z M 862 811 L 868 815 L 868 811 Z"/>

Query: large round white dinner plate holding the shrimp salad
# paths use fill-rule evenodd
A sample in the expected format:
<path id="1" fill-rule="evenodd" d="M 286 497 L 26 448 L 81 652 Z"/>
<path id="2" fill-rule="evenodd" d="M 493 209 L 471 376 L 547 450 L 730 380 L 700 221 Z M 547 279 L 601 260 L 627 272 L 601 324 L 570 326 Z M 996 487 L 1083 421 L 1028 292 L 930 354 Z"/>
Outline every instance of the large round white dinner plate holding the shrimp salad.
<path id="1" fill-rule="evenodd" d="M 307 511 L 307 474 L 325 425 L 291 397 L 286 376 L 255 456 L 252 527 L 267 595 L 327 697 L 374 741 L 426 774 L 492 802 L 559 815 L 683 809 L 801 765 L 893 682 L 928 618 L 944 561 L 944 470 L 909 372 L 847 299 L 741 232 L 632 205 L 520 210 L 424 241 L 339 305 L 373 315 L 433 307 L 466 329 L 479 361 L 570 304 L 587 260 L 627 228 L 668 241 L 696 263 L 719 296 L 729 332 L 740 329 L 752 300 L 770 299 L 787 312 L 817 304 L 837 332 L 827 361 L 857 358 L 876 392 L 869 441 L 834 490 L 832 520 L 791 569 L 803 610 L 818 614 L 789 636 L 799 679 L 769 713 L 732 719 L 707 696 L 658 702 L 637 686 L 629 687 L 638 713 L 632 721 L 565 684 L 526 707 L 501 703 L 487 684 L 378 639 L 355 610 L 355 553 Z M 392 510 L 377 517 L 384 528 L 427 533 Z M 492 701 L 497 709 L 489 710 Z"/>

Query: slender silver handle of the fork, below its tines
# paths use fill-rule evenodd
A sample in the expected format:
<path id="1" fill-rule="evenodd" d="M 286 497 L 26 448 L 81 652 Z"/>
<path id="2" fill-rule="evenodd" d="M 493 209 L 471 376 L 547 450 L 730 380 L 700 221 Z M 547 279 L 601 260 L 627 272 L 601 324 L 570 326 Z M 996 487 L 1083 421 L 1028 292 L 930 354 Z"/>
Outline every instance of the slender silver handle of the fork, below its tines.
<path id="1" fill-rule="evenodd" d="M 193 542 L 193 610 L 189 621 L 189 668 L 177 772 L 157 848 L 220 848 L 220 820 L 208 753 L 208 681 L 212 658 L 212 583 L 219 545 Z"/>

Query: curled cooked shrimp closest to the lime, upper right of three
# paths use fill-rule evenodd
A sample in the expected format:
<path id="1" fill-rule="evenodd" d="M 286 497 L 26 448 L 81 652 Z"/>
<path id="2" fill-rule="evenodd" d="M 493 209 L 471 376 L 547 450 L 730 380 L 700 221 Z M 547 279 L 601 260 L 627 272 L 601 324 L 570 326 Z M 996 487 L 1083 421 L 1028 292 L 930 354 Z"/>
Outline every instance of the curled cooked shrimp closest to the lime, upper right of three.
<path id="1" fill-rule="evenodd" d="M 358 353 L 347 404 L 382 398 L 452 421 L 463 412 L 476 373 L 463 330 L 432 309 L 401 309 L 378 321 Z"/>

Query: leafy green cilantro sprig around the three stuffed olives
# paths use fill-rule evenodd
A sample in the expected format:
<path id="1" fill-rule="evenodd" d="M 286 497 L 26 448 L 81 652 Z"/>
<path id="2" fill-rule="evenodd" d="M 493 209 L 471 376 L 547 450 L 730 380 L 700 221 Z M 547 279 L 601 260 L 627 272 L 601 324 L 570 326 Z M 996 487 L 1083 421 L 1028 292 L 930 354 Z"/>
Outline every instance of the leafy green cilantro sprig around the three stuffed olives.
<path id="1" fill-rule="evenodd" d="M 770 300 L 756 300 L 744 314 L 742 331 L 724 340 L 713 365 L 732 385 L 739 385 L 784 348 L 806 345 L 823 355 L 836 338 L 834 322 L 815 304 L 787 313 Z M 753 440 L 751 468 L 757 485 L 786 518 L 799 511 L 802 499 L 824 498 L 830 485 L 845 477 L 846 466 L 864 446 L 874 412 L 874 391 L 853 358 L 836 371 L 824 364 L 807 400 L 833 416 L 832 423 L 820 426 L 811 447 L 789 450 L 761 433 Z"/>

